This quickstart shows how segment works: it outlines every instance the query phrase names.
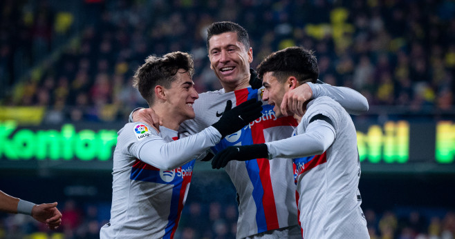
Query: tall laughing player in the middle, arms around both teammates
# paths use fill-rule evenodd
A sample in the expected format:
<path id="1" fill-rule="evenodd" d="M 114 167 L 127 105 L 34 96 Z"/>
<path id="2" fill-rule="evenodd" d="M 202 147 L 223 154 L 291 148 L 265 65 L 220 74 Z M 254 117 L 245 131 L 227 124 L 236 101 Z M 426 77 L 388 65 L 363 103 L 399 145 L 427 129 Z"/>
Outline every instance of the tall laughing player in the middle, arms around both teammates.
<path id="1" fill-rule="evenodd" d="M 230 21 L 212 23 L 207 28 L 207 52 L 210 67 L 223 89 L 202 93 L 194 102 L 196 117 L 183 122 L 180 128 L 190 134 L 201 132 L 218 121 L 228 100 L 234 105 L 249 99 L 261 100 L 261 89 L 250 86 L 254 85 L 255 79 L 250 72 L 253 53 L 248 32 L 241 25 Z M 293 92 L 297 92 L 294 94 L 297 98 L 288 98 L 288 105 L 296 107 L 288 110 L 301 111 L 303 101 L 319 96 L 334 98 L 351 114 L 368 110 L 366 98 L 346 87 L 304 84 Z M 224 138 L 212 147 L 213 151 L 219 152 L 230 145 L 251 145 L 288 138 L 297 121 L 293 116 L 275 117 L 272 108 L 272 105 L 264 104 L 261 118 L 236 132 L 235 136 Z M 135 121 L 154 118 L 151 109 L 137 110 L 131 116 Z M 149 123 L 151 125 L 156 121 Z M 301 238 L 291 160 L 279 157 L 271 160 L 257 158 L 248 162 L 233 160 L 224 169 L 237 191 L 239 220 L 236 238 Z"/>

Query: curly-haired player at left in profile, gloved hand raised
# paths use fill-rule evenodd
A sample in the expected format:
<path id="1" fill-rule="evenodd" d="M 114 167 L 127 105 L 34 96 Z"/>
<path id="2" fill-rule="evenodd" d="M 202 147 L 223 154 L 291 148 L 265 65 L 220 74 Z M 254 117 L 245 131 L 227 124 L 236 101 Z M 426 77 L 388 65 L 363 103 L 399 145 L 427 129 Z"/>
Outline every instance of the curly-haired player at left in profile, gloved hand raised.
<path id="1" fill-rule="evenodd" d="M 183 138 L 177 129 L 194 118 L 198 98 L 189 54 L 149 56 L 135 85 L 165 123 L 158 133 L 145 123 L 127 123 L 118 132 L 113 156 L 111 220 L 100 238 L 173 238 L 185 205 L 194 158 L 228 134 L 261 116 L 261 102 L 247 101 L 198 134 Z M 181 139 L 178 139 L 181 138 Z"/>

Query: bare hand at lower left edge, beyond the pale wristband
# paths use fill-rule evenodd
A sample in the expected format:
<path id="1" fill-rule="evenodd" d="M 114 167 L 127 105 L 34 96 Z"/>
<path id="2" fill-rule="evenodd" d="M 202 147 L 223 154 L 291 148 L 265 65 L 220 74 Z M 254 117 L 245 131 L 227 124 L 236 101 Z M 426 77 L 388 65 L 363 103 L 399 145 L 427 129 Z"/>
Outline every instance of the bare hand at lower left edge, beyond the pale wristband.
<path id="1" fill-rule="evenodd" d="M 46 223 L 50 229 L 57 229 L 62 223 L 62 214 L 57 209 L 57 202 L 33 206 L 32 217 L 39 222 Z"/>

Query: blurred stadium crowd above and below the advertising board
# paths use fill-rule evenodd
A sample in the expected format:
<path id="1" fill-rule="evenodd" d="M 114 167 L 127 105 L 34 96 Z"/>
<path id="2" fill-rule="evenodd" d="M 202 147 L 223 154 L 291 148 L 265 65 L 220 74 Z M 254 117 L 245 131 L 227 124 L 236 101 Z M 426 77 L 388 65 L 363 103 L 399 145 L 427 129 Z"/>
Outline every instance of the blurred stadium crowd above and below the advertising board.
<path id="1" fill-rule="evenodd" d="M 43 123 L 126 122 L 133 108 L 147 107 L 131 77 L 150 54 L 190 52 L 198 92 L 218 90 L 204 30 L 225 20 L 248 30 L 254 66 L 303 45 L 315 50 L 320 79 L 358 90 L 373 109 L 454 114 L 450 0 L 4 0 L 0 12 L 0 107 L 42 107 Z M 0 214 L 0 238 L 98 238 L 110 205 L 101 208 L 60 202 L 57 232 Z M 371 238 L 455 237 L 453 212 L 364 212 Z M 234 238 L 236 218 L 236 205 L 191 202 L 176 238 Z"/>

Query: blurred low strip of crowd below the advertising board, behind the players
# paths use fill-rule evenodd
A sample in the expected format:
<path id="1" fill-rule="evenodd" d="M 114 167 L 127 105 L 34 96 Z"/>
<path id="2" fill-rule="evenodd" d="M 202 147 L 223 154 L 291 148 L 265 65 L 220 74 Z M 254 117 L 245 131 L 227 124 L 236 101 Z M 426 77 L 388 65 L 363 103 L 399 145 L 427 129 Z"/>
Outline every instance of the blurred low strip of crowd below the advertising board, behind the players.
<path id="1" fill-rule="evenodd" d="M 29 216 L 5 215 L 0 218 L 0 238 L 28 239 L 94 239 L 100 238 L 100 227 L 109 218 L 100 216 L 100 207 L 82 207 L 73 200 L 62 203 L 62 226 L 50 231 Z M 371 239 L 451 239 L 455 236 L 455 213 L 422 214 L 418 211 L 364 210 Z M 236 205 L 212 202 L 202 205 L 191 202 L 185 206 L 175 238 L 235 238 Z"/>

